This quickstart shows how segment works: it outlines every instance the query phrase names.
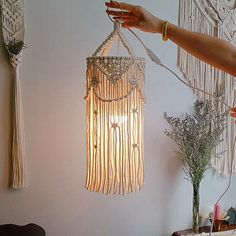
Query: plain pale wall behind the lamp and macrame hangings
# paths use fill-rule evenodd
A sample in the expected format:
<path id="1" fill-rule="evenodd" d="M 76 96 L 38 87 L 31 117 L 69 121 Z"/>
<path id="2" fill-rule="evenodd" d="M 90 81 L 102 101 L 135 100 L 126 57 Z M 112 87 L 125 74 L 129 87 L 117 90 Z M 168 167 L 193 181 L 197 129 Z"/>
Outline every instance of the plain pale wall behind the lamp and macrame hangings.
<path id="1" fill-rule="evenodd" d="M 131 2 L 177 22 L 178 1 Z M 25 5 L 27 49 L 21 81 L 29 188 L 7 189 L 11 73 L 1 47 L 0 224 L 35 222 L 49 236 L 167 236 L 191 227 L 191 185 L 184 180 L 173 152 L 176 146 L 163 134 L 163 112 L 180 115 L 189 111 L 195 100 L 192 92 L 147 60 L 145 185 L 142 191 L 125 197 L 87 192 L 85 58 L 113 26 L 102 0 L 31 0 Z M 177 70 L 177 48 L 171 42 L 163 43 L 157 35 L 139 35 Z M 127 37 L 143 56 L 136 40 Z M 203 214 L 226 183 L 227 179 L 207 174 L 201 186 Z M 223 208 L 236 205 L 233 188 L 223 199 Z"/>

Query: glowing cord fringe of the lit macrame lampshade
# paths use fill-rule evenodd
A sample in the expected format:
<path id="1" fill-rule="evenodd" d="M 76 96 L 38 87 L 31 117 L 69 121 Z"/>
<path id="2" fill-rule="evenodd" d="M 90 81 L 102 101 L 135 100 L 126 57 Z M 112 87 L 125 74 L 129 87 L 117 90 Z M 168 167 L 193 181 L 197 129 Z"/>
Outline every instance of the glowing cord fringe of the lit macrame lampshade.
<path id="1" fill-rule="evenodd" d="M 88 83 L 99 87 L 87 97 L 86 188 L 105 194 L 139 190 L 144 180 L 143 97 L 130 78 L 143 75 L 133 66 L 112 84 L 96 66 L 88 70 Z"/>

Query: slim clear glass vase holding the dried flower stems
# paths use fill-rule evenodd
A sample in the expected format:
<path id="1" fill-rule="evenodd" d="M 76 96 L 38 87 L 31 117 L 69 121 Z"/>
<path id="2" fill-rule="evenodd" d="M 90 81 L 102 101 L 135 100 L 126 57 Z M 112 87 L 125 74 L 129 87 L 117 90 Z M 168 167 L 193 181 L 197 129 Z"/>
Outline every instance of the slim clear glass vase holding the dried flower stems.
<path id="1" fill-rule="evenodd" d="M 199 233 L 199 184 L 193 185 L 193 233 Z"/>

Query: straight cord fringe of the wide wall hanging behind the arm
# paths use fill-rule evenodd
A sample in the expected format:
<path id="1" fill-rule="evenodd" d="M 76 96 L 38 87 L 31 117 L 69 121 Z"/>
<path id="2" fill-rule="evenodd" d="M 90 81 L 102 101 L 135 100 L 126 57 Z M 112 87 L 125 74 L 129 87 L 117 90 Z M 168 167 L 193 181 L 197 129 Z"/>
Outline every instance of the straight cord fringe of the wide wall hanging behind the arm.
<path id="1" fill-rule="evenodd" d="M 216 27 L 210 17 L 205 17 L 194 0 L 180 0 L 179 4 L 179 25 L 181 27 L 227 40 L 223 29 Z M 236 85 L 233 76 L 207 65 L 181 48 L 178 49 L 178 66 L 189 84 L 211 94 L 223 89 L 225 102 L 232 107 L 236 104 Z M 196 94 L 200 99 L 211 99 L 201 92 L 196 92 Z M 226 107 L 221 105 L 219 112 L 225 111 Z M 231 155 L 230 150 L 233 148 L 232 142 L 236 135 L 236 128 L 231 118 L 228 117 L 226 122 L 227 128 L 222 134 L 222 141 L 216 147 L 211 159 L 211 166 L 218 174 L 225 176 L 230 174 L 231 160 L 235 158 L 235 155 Z M 236 162 L 234 162 L 233 172 L 236 172 Z"/>

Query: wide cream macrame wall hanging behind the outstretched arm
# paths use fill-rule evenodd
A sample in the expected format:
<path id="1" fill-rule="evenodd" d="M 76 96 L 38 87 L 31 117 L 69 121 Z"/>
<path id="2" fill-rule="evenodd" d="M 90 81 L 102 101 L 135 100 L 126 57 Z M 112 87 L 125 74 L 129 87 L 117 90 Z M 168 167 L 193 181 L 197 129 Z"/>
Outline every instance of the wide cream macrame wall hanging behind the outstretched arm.
<path id="1" fill-rule="evenodd" d="M 225 39 L 236 45 L 236 1 L 179 0 L 179 25 L 189 30 Z M 210 94 L 223 90 L 225 102 L 231 107 L 236 105 L 234 77 L 196 59 L 181 48 L 178 53 L 178 66 L 190 85 Z M 197 92 L 197 95 L 201 99 L 209 98 L 201 92 Z M 225 109 L 227 107 L 222 104 L 220 112 L 224 112 Z M 212 167 L 221 175 L 230 174 L 231 160 L 236 158 L 236 155 L 230 151 L 233 148 L 235 135 L 236 126 L 229 116 L 222 142 L 216 150 L 218 155 L 211 160 Z M 236 172 L 236 161 L 234 161 L 233 172 Z"/>

